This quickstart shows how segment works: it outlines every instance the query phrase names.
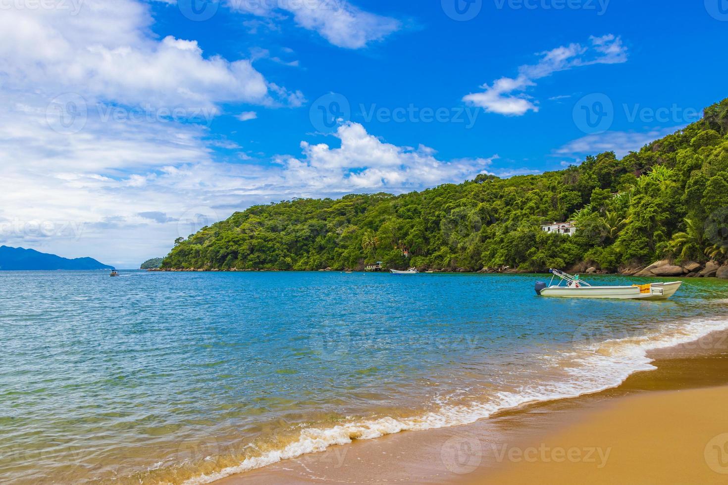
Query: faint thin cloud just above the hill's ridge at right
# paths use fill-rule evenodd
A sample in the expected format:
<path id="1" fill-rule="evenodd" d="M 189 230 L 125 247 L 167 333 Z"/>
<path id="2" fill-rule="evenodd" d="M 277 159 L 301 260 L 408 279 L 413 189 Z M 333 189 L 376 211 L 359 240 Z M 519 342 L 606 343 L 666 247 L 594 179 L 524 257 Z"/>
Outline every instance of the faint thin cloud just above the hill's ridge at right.
<path id="1" fill-rule="evenodd" d="M 638 151 L 648 143 L 658 140 L 670 133 L 676 132 L 682 127 L 650 129 L 647 132 L 604 132 L 599 135 L 587 135 L 585 137 L 572 140 L 566 145 L 561 146 L 553 151 L 553 156 L 572 159 L 573 161 L 583 161 L 587 155 L 598 155 L 605 151 L 614 151 L 618 157 L 622 157 L 630 153 L 630 151 Z M 562 165 L 569 165 L 571 161 L 563 161 Z"/>

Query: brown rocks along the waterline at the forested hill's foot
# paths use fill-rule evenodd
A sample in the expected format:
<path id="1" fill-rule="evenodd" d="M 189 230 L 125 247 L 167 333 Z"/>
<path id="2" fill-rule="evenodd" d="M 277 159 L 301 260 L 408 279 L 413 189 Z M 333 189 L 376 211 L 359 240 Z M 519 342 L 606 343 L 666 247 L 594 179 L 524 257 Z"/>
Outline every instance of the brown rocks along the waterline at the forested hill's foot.
<path id="1" fill-rule="evenodd" d="M 519 270 L 511 268 L 483 268 L 478 271 L 468 270 L 466 268 L 457 268 L 456 270 L 430 270 L 430 268 L 419 268 L 421 272 L 431 271 L 432 273 L 506 273 L 506 274 L 517 274 L 517 273 L 534 273 L 530 270 Z M 147 271 L 165 271 L 165 272 L 250 272 L 250 271 L 281 271 L 281 270 L 239 270 L 237 268 L 231 268 L 229 270 L 221 270 L 218 268 L 151 268 Z M 331 268 L 325 268 L 319 271 L 336 271 Z M 348 271 L 348 270 L 347 270 Z M 577 265 L 572 265 L 567 268 L 568 273 L 583 273 L 583 274 L 620 274 L 624 276 L 682 276 L 684 278 L 724 278 L 728 279 L 728 264 L 719 265 L 715 261 L 708 261 L 705 263 L 689 261 L 682 262 L 680 264 L 670 260 L 660 260 L 653 262 L 648 266 L 641 266 L 638 268 L 619 268 L 616 272 L 606 271 L 596 268 L 595 266 L 587 265 L 582 262 Z"/>

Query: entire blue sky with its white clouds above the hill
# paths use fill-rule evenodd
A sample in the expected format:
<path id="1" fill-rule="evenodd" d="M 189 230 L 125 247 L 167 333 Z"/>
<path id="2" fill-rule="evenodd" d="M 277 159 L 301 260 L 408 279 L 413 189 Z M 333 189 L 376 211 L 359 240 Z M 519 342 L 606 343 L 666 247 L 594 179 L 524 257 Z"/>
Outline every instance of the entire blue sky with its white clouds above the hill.
<path id="1" fill-rule="evenodd" d="M 623 155 L 728 96 L 724 0 L 17 0 L 0 243 L 134 267 L 297 196 Z"/>

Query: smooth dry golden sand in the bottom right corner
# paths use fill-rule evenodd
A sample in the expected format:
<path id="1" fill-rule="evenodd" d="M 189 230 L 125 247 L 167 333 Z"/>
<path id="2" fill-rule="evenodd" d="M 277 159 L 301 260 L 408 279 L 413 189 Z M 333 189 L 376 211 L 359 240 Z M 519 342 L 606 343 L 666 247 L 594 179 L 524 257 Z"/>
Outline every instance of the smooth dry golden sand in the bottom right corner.
<path id="1" fill-rule="evenodd" d="M 724 484 L 727 399 L 728 386 L 617 399 L 553 436 L 504 446 L 507 465 L 488 483 Z"/>

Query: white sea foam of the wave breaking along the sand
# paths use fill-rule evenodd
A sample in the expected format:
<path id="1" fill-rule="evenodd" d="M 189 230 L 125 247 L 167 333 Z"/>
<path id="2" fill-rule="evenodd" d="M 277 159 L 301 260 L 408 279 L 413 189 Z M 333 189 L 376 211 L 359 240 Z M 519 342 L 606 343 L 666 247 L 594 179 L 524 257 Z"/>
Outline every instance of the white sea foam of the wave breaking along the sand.
<path id="1" fill-rule="evenodd" d="M 380 417 L 373 420 L 354 420 L 331 428 L 305 428 L 301 430 L 298 440 L 282 449 L 249 457 L 239 465 L 200 475 L 184 483 L 207 484 L 281 460 L 323 452 L 329 446 L 349 444 L 355 439 L 379 438 L 403 430 L 419 431 L 466 425 L 524 404 L 572 398 L 614 388 L 634 372 L 655 369 L 652 359 L 647 356 L 649 350 L 695 342 L 711 332 L 726 329 L 728 320 L 697 319 L 663 324 L 659 329 L 641 335 L 601 342 L 575 342 L 573 349 L 547 358 L 561 366 L 563 374 L 559 379 L 523 383 L 515 392 L 494 390 L 485 401 L 440 404 L 435 411 L 414 417 Z"/>

